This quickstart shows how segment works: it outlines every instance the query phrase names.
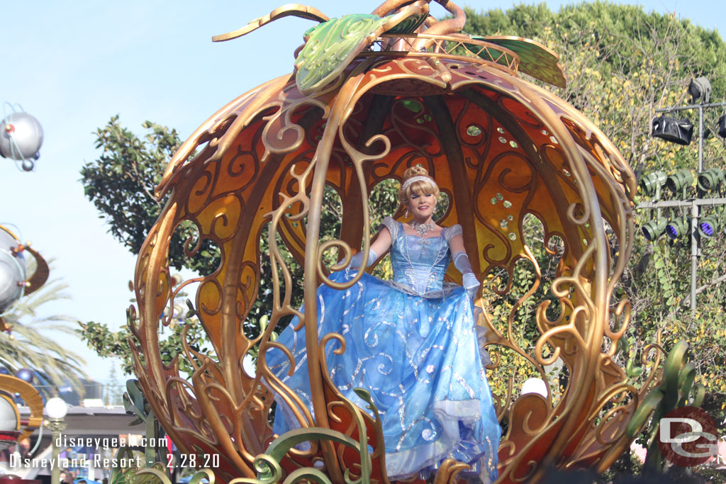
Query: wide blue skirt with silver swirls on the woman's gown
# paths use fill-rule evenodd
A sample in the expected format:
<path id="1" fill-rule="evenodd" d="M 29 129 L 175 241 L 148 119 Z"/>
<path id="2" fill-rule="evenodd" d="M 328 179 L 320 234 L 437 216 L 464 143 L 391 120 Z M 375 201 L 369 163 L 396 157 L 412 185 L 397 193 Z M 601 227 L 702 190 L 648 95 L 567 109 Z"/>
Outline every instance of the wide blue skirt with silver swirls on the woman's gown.
<path id="1" fill-rule="evenodd" d="M 333 273 L 343 282 L 355 270 Z M 502 430 L 482 365 L 472 304 L 462 287 L 413 295 L 394 283 L 364 274 L 348 290 L 324 285 L 317 291 L 318 335 L 338 332 L 346 350 L 336 355 L 335 340 L 325 348 L 333 382 L 350 401 L 367 403 L 353 391 L 370 392 L 383 422 L 386 470 L 391 479 L 428 477 L 449 457 L 472 466 L 462 477 L 489 483 L 497 478 Z M 292 350 L 295 372 L 282 351 L 267 352 L 274 374 L 295 390 L 312 411 L 304 330 L 295 319 L 277 338 Z M 274 432 L 298 428 L 278 399 Z"/>

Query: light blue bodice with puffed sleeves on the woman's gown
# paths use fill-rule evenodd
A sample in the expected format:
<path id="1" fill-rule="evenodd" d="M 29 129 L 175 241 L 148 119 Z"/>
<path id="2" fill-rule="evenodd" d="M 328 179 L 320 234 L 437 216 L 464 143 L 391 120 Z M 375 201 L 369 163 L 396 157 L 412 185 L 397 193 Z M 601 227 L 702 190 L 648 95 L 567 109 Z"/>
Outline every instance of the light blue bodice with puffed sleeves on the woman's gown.
<path id="1" fill-rule="evenodd" d="M 449 268 L 451 252 L 449 240 L 461 234 L 461 226 L 444 228 L 440 236 L 419 237 L 406 234 L 403 223 L 393 218 L 383 219 L 383 226 L 391 232 L 391 266 L 393 283 L 405 292 L 415 295 L 437 295 L 449 292 L 444 287 L 444 274 Z"/>

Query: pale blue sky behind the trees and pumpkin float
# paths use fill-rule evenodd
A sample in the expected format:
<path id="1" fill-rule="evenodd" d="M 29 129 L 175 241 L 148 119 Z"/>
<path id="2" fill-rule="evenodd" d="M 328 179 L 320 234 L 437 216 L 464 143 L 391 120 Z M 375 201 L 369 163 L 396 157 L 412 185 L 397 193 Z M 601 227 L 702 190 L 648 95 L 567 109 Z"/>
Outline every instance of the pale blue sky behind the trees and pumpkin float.
<path id="1" fill-rule="evenodd" d="M 45 139 L 33 173 L 17 171 L 0 159 L 0 223 L 18 226 L 23 239 L 54 259 L 52 278 L 70 284 L 72 299 L 49 305 L 48 313 L 118 328 L 132 297 L 127 283 L 135 258 L 107 233 L 78 182 L 83 163 L 99 155 L 95 129 L 119 114 L 121 123 L 136 133 L 142 132 L 144 120 L 152 120 L 176 128 L 186 138 L 229 100 L 290 72 L 293 51 L 312 22 L 286 18 L 235 41 L 211 42 L 211 36 L 240 28 L 285 3 L 4 2 L 0 102 L 22 104 L 41 122 Z M 370 12 L 379 3 L 310 0 L 329 17 Z M 515 3 L 519 2 L 459 4 L 481 10 L 507 9 Z M 567 3 L 571 2 L 547 1 L 553 10 Z M 722 35 L 726 32 L 723 1 L 619 3 L 674 12 Z M 440 7 L 433 7 L 437 10 Z M 107 380 L 111 361 L 95 356 L 80 340 L 63 341 L 86 358 L 91 377 Z"/>

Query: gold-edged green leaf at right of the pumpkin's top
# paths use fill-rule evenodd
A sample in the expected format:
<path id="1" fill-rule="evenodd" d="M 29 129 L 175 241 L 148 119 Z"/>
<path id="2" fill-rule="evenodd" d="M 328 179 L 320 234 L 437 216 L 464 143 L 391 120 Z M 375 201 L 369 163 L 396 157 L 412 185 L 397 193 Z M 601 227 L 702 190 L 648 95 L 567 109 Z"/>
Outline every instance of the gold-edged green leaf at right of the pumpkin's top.
<path id="1" fill-rule="evenodd" d="M 519 57 L 519 70 L 525 74 L 531 75 L 533 78 L 539 79 L 552 86 L 564 88 L 567 85 L 565 73 L 560 67 L 560 58 L 547 47 L 529 38 L 514 36 L 471 36 L 478 41 L 490 42 L 497 44 L 505 49 L 509 49 Z M 497 62 L 490 57 L 489 52 L 484 49 L 479 56 Z"/>

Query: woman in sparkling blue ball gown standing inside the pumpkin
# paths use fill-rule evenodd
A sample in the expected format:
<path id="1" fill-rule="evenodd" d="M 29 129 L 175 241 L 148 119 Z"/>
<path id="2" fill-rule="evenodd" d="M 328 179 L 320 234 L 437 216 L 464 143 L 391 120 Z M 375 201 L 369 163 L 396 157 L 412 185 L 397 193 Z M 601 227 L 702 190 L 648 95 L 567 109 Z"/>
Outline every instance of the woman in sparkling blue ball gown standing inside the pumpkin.
<path id="1" fill-rule="evenodd" d="M 433 476 L 444 459 L 454 458 L 472 469 L 460 474 L 484 483 L 497 478 L 497 448 L 502 430 L 492 405 L 473 318 L 472 298 L 479 282 L 464 250 L 460 225 L 441 227 L 433 221 L 439 196 L 436 182 L 420 165 L 403 177 L 399 200 L 410 223 L 383 219 L 370 246 L 368 264 L 391 248 L 393 281 L 364 274 L 348 290 L 319 287 L 319 335 L 339 332 L 346 350 L 326 347 L 333 382 L 360 408 L 354 393 L 362 387 L 378 406 L 386 441 L 390 479 Z M 449 261 L 463 274 L 464 287 L 444 284 Z M 362 262 L 331 275 L 350 280 Z M 292 376 L 281 350 L 267 353 L 267 364 L 312 409 L 305 337 L 295 321 L 277 339 L 292 350 L 298 367 Z M 278 399 L 274 431 L 299 427 Z"/>

